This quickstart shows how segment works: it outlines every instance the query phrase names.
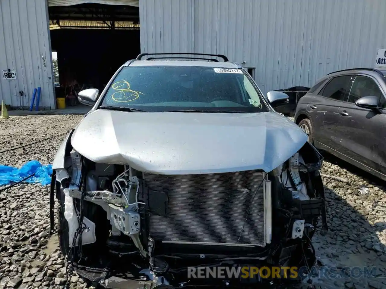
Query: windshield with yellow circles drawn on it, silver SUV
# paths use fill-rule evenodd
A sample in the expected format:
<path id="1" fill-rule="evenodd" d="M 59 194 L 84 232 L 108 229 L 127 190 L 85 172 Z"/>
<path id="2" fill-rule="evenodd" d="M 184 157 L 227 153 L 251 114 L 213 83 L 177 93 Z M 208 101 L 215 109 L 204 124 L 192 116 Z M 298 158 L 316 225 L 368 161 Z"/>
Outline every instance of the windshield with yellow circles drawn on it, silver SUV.
<path id="1" fill-rule="evenodd" d="M 203 66 L 123 67 L 101 108 L 142 111 L 268 111 L 241 69 Z"/>

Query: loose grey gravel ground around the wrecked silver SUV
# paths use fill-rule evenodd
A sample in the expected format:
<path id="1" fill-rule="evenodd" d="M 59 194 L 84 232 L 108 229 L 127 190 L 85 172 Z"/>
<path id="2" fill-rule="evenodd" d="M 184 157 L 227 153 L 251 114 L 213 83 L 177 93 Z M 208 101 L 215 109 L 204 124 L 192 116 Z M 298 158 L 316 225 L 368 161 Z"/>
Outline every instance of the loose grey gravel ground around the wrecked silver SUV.
<path id="1" fill-rule="evenodd" d="M 73 128 L 82 116 L 23 116 L 0 119 L 0 151 Z M 29 160 L 52 163 L 64 136 L 9 151 L 0 164 L 21 166 Z M 322 173 L 329 231 L 313 239 L 321 288 L 386 288 L 386 188 L 379 179 L 328 156 Z M 345 181 L 330 176 L 339 176 Z M 0 288 L 63 288 L 65 266 L 57 235 L 49 238 L 49 186 L 15 186 L 0 192 Z M 376 267 L 372 277 L 344 275 L 344 267 Z M 353 272 L 351 272 L 353 273 Z M 357 278 L 355 278 L 357 277 Z M 72 288 L 86 288 L 76 275 Z M 92 287 L 90 287 L 91 289 Z"/>

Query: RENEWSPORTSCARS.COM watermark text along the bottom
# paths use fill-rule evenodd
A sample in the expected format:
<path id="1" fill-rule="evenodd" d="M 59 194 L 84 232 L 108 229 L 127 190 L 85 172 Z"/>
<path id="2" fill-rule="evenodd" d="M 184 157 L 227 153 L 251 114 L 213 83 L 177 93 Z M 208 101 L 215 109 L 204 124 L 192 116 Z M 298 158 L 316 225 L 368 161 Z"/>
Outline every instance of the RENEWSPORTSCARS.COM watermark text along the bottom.
<path id="1" fill-rule="evenodd" d="M 267 278 L 299 279 L 312 278 L 369 278 L 376 273 L 376 267 L 188 267 L 188 278 Z"/>

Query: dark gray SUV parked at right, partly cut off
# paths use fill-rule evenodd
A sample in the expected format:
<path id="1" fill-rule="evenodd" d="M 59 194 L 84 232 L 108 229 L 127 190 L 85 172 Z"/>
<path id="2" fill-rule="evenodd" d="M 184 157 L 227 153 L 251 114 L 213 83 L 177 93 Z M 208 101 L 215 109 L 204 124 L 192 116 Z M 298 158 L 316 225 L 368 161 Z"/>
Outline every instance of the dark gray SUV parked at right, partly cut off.
<path id="1" fill-rule="evenodd" d="M 386 180 L 386 70 L 357 68 L 321 78 L 296 107 L 308 141 Z"/>

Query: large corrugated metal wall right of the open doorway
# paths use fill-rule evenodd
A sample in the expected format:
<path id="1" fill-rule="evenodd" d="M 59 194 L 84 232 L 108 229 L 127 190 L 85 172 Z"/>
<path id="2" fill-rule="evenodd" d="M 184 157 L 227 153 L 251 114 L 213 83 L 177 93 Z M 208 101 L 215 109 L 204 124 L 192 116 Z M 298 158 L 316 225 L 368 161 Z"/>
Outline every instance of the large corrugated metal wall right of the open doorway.
<path id="1" fill-rule="evenodd" d="M 140 0 L 141 52 L 225 54 L 263 92 L 374 67 L 385 0 Z"/>

